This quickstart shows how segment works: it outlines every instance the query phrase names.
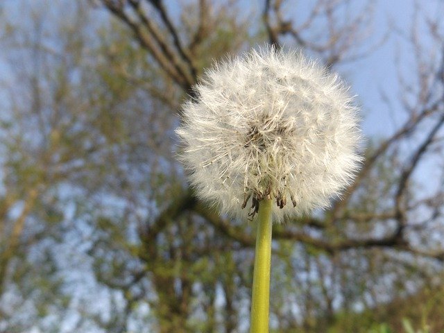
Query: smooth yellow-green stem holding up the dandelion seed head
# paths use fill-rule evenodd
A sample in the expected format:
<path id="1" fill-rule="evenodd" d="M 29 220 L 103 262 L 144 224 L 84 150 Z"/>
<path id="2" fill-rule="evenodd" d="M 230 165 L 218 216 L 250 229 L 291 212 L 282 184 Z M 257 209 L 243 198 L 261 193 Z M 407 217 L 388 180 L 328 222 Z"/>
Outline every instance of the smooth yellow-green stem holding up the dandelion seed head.
<path id="1" fill-rule="evenodd" d="M 271 264 L 271 203 L 262 200 L 257 214 L 255 271 L 251 298 L 250 333 L 268 333 Z"/>

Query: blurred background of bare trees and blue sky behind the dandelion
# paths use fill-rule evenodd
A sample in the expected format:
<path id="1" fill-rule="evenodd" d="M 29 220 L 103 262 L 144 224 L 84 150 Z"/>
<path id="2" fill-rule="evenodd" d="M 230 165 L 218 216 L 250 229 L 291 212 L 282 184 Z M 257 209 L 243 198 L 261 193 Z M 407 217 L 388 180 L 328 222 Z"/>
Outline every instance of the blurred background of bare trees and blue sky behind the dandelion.
<path id="1" fill-rule="evenodd" d="M 1 0 L 0 332 L 248 332 L 254 225 L 175 159 L 205 67 L 274 44 L 352 86 L 366 162 L 275 225 L 271 332 L 443 332 L 444 2 Z"/>

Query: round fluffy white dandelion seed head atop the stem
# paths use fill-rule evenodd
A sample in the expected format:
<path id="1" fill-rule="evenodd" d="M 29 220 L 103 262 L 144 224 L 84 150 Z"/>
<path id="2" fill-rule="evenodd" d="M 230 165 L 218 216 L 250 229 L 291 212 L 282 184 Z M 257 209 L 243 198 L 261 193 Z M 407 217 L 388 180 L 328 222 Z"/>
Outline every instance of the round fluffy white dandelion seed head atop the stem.
<path id="1" fill-rule="evenodd" d="M 282 221 L 327 207 L 352 182 L 361 161 L 358 109 L 318 62 L 253 50 L 214 65 L 195 92 L 176 131 L 180 159 L 198 196 L 223 214 L 254 216 L 272 198 L 273 219 Z"/>

